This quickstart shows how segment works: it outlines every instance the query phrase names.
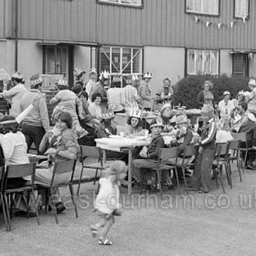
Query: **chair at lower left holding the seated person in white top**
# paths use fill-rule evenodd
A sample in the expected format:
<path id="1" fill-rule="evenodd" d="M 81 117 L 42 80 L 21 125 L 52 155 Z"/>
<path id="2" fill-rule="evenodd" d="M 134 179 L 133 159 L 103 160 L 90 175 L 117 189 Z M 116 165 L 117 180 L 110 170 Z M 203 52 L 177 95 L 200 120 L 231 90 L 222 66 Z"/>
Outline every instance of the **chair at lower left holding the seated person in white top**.
<path id="1" fill-rule="evenodd" d="M 35 196 L 35 173 L 36 173 L 36 163 L 29 163 L 25 165 L 9 165 L 6 167 L 6 173 L 5 173 L 5 186 L 3 187 L 3 196 L 5 197 L 5 206 L 6 206 L 6 213 L 7 218 L 9 222 L 9 230 L 11 230 L 11 220 L 10 220 L 10 212 L 12 212 L 12 199 L 11 199 L 11 205 L 10 205 L 10 211 L 8 209 L 7 204 L 7 197 L 13 196 L 16 193 L 24 193 L 27 192 L 27 218 L 29 217 L 29 206 L 30 206 L 30 197 L 29 193 L 31 192 L 33 197 L 33 204 L 36 208 L 36 214 L 37 214 L 37 224 L 39 225 L 39 216 L 37 211 L 37 199 Z M 31 176 L 31 184 L 26 184 L 22 187 L 15 187 L 15 188 L 7 188 L 8 186 L 8 178 L 17 178 L 17 177 L 23 177 L 23 176 Z"/>

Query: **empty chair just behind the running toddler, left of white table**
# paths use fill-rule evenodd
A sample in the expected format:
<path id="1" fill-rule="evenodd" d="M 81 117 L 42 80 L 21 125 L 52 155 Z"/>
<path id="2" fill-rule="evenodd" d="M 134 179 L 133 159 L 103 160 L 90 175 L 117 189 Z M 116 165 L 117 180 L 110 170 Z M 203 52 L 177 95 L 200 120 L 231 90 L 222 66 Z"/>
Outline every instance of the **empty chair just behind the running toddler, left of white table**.
<path id="1" fill-rule="evenodd" d="M 88 157 L 95 158 L 96 162 L 86 164 L 85 161 Z M 108 165 L 103 165 L 101 148 L 96 146 L 81 145 L 80 146 L 80 162 L 81 162 L 81 170 L 80 170 L 80 181 L 79 181 L 79 186 L 77 190 L 77 195 L 79 195 L 80 193 L 80 184 L 82 183 L 82 175 L 83 175 L 84 168 L 96 169 L 96 173 L 94 176 L 94 183 L 93 183 L 95 185 L 98 177 L 98 171 L 108 167 Z"/>

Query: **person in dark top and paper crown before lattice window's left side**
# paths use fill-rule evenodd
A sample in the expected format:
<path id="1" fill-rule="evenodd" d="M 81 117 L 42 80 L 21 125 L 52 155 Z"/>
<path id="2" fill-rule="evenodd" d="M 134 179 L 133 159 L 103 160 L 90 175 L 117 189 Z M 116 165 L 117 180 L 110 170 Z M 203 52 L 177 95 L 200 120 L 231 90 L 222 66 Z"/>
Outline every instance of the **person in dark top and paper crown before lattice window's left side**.
<path id="1" fill-rule="evenodd" d="M 106 112 L 107 110 L 107 103 L 108 103 L 108 96 L 107 96 L 107 91 L 106 87 L 109 87 L 110 85 L 110 73 L 106 70 L 101 72 L 99 82 L 97 83 L 97 93 L 101 94 L 101 111 Z"/>

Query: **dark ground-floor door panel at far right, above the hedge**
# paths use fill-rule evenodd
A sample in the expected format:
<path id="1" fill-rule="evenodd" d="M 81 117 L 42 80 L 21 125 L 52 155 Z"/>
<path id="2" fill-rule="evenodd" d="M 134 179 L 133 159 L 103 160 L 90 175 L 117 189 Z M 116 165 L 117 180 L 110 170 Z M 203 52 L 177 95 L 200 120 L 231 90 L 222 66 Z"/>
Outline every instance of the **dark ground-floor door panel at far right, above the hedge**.
<path id="1" fill-rule="evenodd" d="M 233 54 L 233 76 L 248 77 L 249 76 L 249 59 L 247 53 Z"/>

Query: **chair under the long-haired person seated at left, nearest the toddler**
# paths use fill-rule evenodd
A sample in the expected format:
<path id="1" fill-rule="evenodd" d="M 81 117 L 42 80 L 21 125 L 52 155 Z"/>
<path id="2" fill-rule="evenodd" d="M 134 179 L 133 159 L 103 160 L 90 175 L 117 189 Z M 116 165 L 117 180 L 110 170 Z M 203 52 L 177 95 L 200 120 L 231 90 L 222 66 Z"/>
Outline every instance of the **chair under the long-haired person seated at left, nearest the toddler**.
<path id="1" fill-rule="evenodd" d="M 51 195 L 54 195 L 54 189 L 55 188 L 69 187 L 72 203 L 73 203 L 73 206 L 74 206 L 74 209 L 75 209 L 76 218 L 79 218 L 77 204 L 76 204 L 76 200 L 74 198 L 74 190 L 73 190 L 73 183 L 72 183 L 75 168 L 76 168 L 76 160 L 75 159 L 68 160 L 68 161 L 56 162 L 54 167 L 53 167 L 52 178 L 51 178 L 50 185 L 49 186 L 40 185 L 40 187 L 48 187 L 49 190 L 50 190 Z M 64 182 L 64 183 L 56 183 L 55 182 L 56 175 L 62 175 L 62 174 L 68 174 L 68 173 L 70 173 L 70 178 L 67 182 Z M 47 206 L 48 206 L 48 195 L 47 195 L 47 198 L 46 198 L 46 205 L 45 205 L 46 210 L 47 210 Z M 58 224 L 59 220 L 58 220 L 58 216 L 57 216 L 57 208 L 55 206 L 54 201 L 52 203 L 52 209 L 54 211 L 56 224 Z"/>

